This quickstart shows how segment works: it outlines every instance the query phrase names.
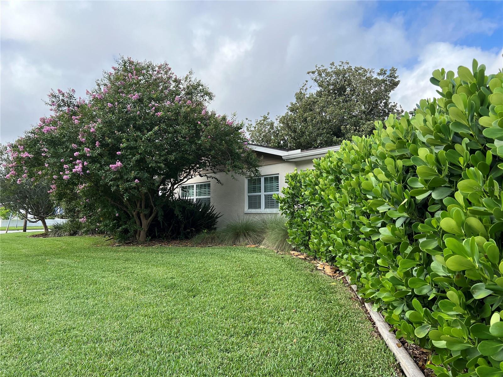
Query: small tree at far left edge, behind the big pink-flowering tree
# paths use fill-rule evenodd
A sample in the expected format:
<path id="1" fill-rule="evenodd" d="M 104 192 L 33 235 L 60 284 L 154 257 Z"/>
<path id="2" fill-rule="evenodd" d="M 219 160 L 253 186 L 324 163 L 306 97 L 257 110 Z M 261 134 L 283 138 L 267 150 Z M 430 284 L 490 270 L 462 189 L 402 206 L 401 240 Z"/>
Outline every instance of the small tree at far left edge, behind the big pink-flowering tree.
<path id="1" fill-rule="evenodd" d="M 12 162 L 8 158 L 8 150 L 5 146 L 0 146 L 0 201 L 10 212 L 28 215 L 25 216 L 28 222 L 40 221 L 44 231 L 47 232 L 45 219 L 54 213 L 56 207 L 48 193 L 51 183 L 46 179 L 36 181 L 34 178 L 28 178 L 26 172 L 12 179 L 13 174 L 10 172 Z"/>

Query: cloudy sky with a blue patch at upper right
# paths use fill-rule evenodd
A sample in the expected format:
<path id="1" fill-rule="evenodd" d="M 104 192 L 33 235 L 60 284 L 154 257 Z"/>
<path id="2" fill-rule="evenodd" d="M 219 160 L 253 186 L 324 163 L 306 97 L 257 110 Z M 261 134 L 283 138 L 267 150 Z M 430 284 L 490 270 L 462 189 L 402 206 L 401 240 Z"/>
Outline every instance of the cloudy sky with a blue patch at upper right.
<path id="1" fill-rule="evenodd" d="M 503 2 L 0 2 L 0 142 L 41 116 L 50 89 L 85 97 L 119 55 L 190 69 L 237 118 L 284 114 L 315 65 L 398 68 L 393 101 L 436 95 L 431 72 L 503 67 Z"/>

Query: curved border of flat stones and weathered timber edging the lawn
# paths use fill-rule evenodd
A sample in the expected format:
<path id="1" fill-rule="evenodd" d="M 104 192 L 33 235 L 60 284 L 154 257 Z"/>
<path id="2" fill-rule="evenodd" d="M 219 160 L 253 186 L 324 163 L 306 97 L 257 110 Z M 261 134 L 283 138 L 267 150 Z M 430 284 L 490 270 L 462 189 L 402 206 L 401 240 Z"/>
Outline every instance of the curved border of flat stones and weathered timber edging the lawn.
<path id="1" fill-rule="evenodd" d="M 255 246 L 255 245 L 254 245 Z M 261 246 L 262 247 L 262 246 Z M 328 263 L 321 262 L 319 260 L 316 260 L 312 257 L 309 257 L 307 254 L 303 254 L 297 251 L 291 251 L 290 254 L 296 258 L 300 259 L 305 259 L 310 261 L 311 263 L 316 264 L 316 268 L 323 273 L 327 274 L 328 276 L 333 276 L 336 277 L 338 273 L 334 271 L 333 266 L 330 266 Z M 336 267 L 337 269 L 337 267 Z M 337 276 L 337 278 L 341 278 L 340 276 Z M 421 370 L 419 366 L 415 363 L 414 359 L 409 355 L 409 353 L 406 351 L 405 347 L 402 346 L 400 341 L 396 339 L 395 334 L 391 332 L 391 328 L 389 325 L 384 321 L 384 317 L 382 316 L 381 313 L 376 312 L 374 309 L 372 309 L 372 305 L 369 303 L 366 303 L 360 295 L 357 293 L 357 288 L 356 285 L 352 285 L 351 282 L 349 281 L 348 277 L 345 276 L 346 281 L 348 282 L 348 285 L 351 287 L 355 295 L 358 297 L 360 302 L 365 306 L 365 309 L 369 312 L 370 317 L 374 321 L 377 330 L 379 331 L 379 334 L 381 334 L 381 337 L 384 339 L 384 342 L 388 346 L 388 348 L 393 352 L 395 355 L 396 361 L 400 364 L 400 367 L 405 374 L 406 377 L 425 377 L 425 374 Z"/>

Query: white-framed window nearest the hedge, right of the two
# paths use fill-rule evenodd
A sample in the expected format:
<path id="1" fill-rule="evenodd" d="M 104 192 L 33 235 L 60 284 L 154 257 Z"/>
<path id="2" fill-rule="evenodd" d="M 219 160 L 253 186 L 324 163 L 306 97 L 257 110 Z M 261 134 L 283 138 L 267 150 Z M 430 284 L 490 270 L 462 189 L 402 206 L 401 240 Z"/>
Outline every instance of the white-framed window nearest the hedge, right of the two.
<path id="1" fill-rule="evenodd" d="M 280 192 L 279 175 L 265 175 L 246 179 L 246 204 L 249 212 L 278 212 L 278 202 L 273 198 Z"/>

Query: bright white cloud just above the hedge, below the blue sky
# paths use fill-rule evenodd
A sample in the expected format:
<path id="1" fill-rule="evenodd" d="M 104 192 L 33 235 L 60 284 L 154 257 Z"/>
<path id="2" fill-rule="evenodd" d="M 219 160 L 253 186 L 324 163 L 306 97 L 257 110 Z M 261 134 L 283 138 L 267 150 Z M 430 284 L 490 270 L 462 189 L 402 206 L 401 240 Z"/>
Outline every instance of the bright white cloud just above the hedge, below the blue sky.
<path id="1" fill-rule="evenodd" d="M 457 72 L 458 66 L 471 69 L 472 60 L 485 64 L 486 72 L 496 73 L 503 67 L 503 50 L 482 51 L 476 47 L 455 46 L 450 43 L 432 43 L 421 51 L 416 64 L 411 68 L 399 68 L 400 84 L 391 93 L 391 99 L 400 104 L 404 110 L 412 110 L 421 99 L 439 97 L 437 86 L 430 83 L 435 69 Z"/>

